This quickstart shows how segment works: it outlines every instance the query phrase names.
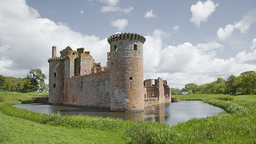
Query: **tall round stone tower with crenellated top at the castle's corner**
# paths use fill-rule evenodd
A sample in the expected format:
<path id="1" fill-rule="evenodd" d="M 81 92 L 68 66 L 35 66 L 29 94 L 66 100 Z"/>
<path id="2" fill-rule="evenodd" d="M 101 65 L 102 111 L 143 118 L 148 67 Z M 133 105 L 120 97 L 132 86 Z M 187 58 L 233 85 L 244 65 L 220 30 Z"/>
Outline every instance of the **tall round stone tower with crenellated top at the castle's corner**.
<path id="1" fill-rule="evenodd" d="M 146 38 L 121 33 L 110 36 L 107 41 L 110 44 L 111 111 L 143 111 L 143 44 Z"/>

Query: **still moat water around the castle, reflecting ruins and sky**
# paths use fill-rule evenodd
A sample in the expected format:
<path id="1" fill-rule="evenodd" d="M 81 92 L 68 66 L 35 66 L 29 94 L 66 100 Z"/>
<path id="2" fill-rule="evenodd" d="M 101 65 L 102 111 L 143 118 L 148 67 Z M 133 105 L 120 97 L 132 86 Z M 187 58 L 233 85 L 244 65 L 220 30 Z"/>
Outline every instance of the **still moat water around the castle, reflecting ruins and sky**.
<path id="1" fill-rule="evenodd" d="M 219 107 L 203 103 L 202 101 L 180 101 L 176 103 L 160 104 L 145 107 L 144 112 L 134 113 L 111 112 L 109 109 L 73 105 L 19 104 L 13 106 L 45 114 L 60 111 L 62 114 L 68 115 L 84 114 L 90 116 L 121 118 L 123 120 L 132 121 L 149 120 L 167 123 L 169 125 L 185 122 L 194 117 L 214 116 L 221 112 L 225 112 Z"/>

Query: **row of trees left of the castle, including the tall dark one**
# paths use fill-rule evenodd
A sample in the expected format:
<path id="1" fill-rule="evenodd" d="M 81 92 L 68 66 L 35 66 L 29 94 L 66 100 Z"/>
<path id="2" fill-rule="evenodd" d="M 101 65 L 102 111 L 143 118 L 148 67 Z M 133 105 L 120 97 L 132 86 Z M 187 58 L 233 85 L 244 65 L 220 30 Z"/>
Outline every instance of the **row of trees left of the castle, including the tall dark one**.
<path id="1" fill-rule="evenodd" d="M 0 90 L 17 92 L 47 92 L 49 85 L 41 69 L 30 69 L 25 78 L 4 77 L 0 75 Z"/>

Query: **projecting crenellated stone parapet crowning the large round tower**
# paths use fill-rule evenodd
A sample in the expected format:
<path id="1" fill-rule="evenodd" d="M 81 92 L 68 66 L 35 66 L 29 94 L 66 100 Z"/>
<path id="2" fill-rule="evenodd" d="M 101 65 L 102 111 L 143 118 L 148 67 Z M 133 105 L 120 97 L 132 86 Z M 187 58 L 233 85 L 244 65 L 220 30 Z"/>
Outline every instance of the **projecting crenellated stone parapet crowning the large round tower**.
<path id="1" fill-rule="evenodd" d="M 135 33 L 118 33 L 118 34 L 114 34 L 114 35 L 110 36 L 107 39 L 107 42 L 110 44 L 112 41 L 122 40 L 122 39 L 138 40 L 138 41 L 141 41 L 142 44 L 144 44 L 144 42 L 146 41 L 146 38 L 143 37 L 140 34 L 135 34 Z"/>

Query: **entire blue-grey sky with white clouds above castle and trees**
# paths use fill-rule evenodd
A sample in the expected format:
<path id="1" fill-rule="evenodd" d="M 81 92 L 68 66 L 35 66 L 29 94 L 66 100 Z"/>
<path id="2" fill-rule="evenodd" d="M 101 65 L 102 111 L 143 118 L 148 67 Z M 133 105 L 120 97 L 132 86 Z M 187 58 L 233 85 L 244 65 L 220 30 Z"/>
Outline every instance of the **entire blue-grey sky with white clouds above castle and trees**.
<path id="1" fill-rule="evenodd" d="M 256 71 L 255 0 L 0 0 L 0 74 L 49 77 L 52 46 L 91 51 L 106 66 L 115 33 L 138 33 L 144 79 L 172 88 Z"/>

